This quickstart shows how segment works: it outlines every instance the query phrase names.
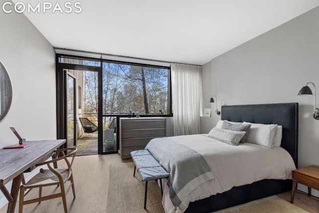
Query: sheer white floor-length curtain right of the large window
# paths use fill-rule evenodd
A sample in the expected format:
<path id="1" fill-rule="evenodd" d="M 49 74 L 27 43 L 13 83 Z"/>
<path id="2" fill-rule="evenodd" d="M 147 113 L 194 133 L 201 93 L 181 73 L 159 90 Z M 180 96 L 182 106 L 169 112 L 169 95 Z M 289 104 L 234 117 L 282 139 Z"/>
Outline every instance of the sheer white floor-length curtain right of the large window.
<path id="1" fill-rule="evenodd" d="M 171 64 L 174 135 L 200 133 L 201 67 Z"/>

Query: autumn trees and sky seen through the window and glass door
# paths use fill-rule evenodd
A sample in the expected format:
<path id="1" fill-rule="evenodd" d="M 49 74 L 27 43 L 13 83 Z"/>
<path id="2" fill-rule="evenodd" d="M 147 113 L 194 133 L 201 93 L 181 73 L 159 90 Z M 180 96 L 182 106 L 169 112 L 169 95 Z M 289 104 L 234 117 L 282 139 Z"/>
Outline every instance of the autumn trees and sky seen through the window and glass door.
<path id="1" fill-rule="evenodd" d="M 167 69 L 103 62 L 103 114 L 167 114 L 167 75 Z M 83 80 L 84 112 L 97 121 L 98 73 L 83 72 Z"/>

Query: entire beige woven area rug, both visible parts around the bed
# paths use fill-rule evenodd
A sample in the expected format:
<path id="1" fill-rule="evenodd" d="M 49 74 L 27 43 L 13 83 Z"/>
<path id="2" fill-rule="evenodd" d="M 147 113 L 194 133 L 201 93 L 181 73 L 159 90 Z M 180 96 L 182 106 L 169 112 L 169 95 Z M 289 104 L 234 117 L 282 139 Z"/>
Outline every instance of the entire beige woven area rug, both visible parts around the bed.
<path id="1" fill-rule="evenodd" d="M 133 177 L 134 163 L 110 165 L 110 182 L 107 199 L 108 213 L 164 213 L 160 187 L 155 181 L 148 184 L 147 210 L 144 210 L 145 183 L 138 172 Z M 220 210 L 215 213 L 307 213 L 301 208 L 271 196 L 247 204 Z"/>

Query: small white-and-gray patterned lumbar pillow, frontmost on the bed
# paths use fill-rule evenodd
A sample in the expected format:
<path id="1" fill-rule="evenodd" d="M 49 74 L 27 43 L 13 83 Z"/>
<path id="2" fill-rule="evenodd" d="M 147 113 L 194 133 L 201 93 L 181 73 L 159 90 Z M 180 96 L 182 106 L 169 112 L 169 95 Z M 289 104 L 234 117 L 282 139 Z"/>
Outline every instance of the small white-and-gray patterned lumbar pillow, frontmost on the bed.
<path id="1" fill-rule="evenodd" d="M 207 137 L 216 139 L 232 146 L 237 146 L 239 144 L 239 141 L 244 137 L 245 134 L 246 132 L 244 131 L 237 132 L 226 129 L 218 129 L 214 127 L 212 130 L 210 130 Z"/>

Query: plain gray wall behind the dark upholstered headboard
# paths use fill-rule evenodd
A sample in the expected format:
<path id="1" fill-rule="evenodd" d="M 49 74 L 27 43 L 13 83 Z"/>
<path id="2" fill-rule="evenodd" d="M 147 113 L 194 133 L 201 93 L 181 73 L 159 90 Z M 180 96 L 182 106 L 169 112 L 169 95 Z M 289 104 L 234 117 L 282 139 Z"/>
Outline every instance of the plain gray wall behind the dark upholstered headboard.
<path id="1" fill-rule="evenodd" d="M 299 167 L 319 165 L 319 121 L 312 118 L 313 96 L 297 96 L 306 82 L 319 87 L 318 26 L 316 7 L 213 58 L 211 75 L 203 73 L 203 79 L 211 79 L 204 88 L 223 99 L 223 105 L 299 102 Z M 220 116 L 213 114 L 214 126 Z M 318 191 L 315 195 L 319 196 Z"/>

